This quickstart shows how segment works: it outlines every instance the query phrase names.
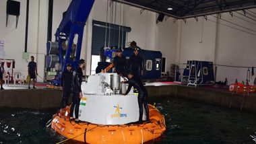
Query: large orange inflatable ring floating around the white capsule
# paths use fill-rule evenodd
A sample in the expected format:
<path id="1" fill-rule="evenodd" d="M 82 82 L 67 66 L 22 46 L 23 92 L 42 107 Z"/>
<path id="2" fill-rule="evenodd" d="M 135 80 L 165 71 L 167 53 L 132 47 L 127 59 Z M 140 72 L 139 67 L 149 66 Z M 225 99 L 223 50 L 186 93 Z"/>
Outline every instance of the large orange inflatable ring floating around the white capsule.
<path id="1" fill-rule="evenodd" d="M 152 105 L 150 122 L 141 124 L 101 125 L 69 121 L 70 108 L 63 108 L 53 116 L 51 128 L 57 133 L 84 143 L 145 143 L 160 137 L 166 130 L 164 116 Z"/>

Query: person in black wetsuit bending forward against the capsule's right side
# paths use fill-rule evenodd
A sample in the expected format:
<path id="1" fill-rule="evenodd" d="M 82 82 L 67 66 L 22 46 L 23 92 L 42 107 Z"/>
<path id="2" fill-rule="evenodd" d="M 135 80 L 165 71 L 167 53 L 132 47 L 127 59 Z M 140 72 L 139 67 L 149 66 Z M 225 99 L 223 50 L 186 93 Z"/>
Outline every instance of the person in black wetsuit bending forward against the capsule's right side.
<path id="1" fill-rule="evenodd" d="M 139 104 L 139 122 L 142 122 L 142 116 L 143 116 L 143 108 L 146 111 L 146 122 L 150 122 L 150 115 L 148 110 L 148 91 L 144 87 L 143 83 L 140 79 L 136 79 L 133 76 L 132 72 L 128 73 L 128 79 L 129 81 L 122 81 L 121 83 L 129 83 L 128 89 L 125 93 L 125 95 L 129 94 L 131 87 L 137 89 L 139 92 L 138 94 L 138 104 Z"/>

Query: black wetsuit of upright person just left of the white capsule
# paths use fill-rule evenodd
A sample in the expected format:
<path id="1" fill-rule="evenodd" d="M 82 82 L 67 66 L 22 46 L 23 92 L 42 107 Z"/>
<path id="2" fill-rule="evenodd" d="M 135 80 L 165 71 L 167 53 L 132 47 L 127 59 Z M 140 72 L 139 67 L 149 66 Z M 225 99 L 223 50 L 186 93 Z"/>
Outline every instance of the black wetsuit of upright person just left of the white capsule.
<path id="1" fill-rule="evenodd" d="M 82 92 L 81 84 L 82 84 L 82 76 L 83 72 L 80 67 L 75 69 L 73 71 L 73 82 L 72 82 L 72 92 L 73 92 L 73 102 L 70 108 L 70 116 L 73 116 L 73 110 L 75 108 L 75 118 L 78 118 L 78 112 L 79 112 L 79 104 L 80 104 L 80 98 L 79 93 Z"/>

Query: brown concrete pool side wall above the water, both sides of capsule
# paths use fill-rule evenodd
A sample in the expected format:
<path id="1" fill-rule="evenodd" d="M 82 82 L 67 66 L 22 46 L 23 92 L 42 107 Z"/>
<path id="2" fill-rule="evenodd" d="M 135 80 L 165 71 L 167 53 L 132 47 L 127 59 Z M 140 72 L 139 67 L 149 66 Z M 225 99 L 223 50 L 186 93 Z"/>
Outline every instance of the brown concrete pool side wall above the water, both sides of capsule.
<path id="1" fill-rule="evenodd" d="M 243 94 L 234 94 L 226 89 L 209 87 L 188 87 L 184 85 L 146 86 L 149 98 L 160 96 L 181 97 L 224 107 L 238 108 L 243 102 Z M 0 90 L 0 107 L 8 108 L 58 108 L 62 92 L 57 89 L 5 89 Z M 256 112 L 256 94 L 245 96 L 243 110 Z"/>

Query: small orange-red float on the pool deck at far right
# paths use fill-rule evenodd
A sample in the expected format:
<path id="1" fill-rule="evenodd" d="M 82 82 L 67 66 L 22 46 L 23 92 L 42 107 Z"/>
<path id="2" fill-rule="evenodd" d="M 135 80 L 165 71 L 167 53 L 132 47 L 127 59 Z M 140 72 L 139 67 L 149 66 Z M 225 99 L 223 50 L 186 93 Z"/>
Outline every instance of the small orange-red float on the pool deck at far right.
<path id="1" fill-rule="evenodd" d="M 255 86 L 254 85 L 245 85 L 242 83 L 235 83 L 232 85 L 229 85 L 229 91 L 230 92 L 236 92 L 236 93 L 244 93 L 244 92 L 255 92 Z"/>

